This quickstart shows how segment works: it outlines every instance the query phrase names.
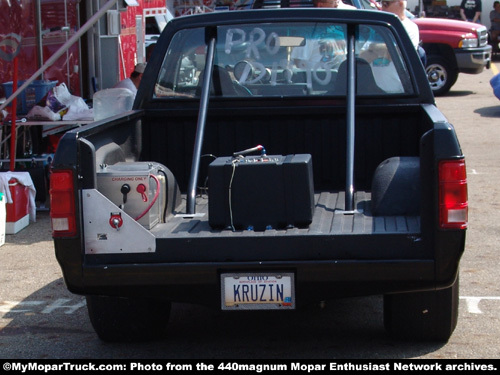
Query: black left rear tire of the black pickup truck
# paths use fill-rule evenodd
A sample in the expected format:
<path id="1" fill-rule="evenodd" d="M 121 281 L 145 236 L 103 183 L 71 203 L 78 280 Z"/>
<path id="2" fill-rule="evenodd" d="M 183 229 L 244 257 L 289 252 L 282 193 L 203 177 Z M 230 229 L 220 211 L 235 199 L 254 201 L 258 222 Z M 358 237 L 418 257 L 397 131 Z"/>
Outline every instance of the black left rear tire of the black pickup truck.
<path id="1" fill-rule="evenodd" d="M 164 337 L 171 303 L 150 298 L 86 296 L 90 322 L 103 341 L 146 341 Z"/>

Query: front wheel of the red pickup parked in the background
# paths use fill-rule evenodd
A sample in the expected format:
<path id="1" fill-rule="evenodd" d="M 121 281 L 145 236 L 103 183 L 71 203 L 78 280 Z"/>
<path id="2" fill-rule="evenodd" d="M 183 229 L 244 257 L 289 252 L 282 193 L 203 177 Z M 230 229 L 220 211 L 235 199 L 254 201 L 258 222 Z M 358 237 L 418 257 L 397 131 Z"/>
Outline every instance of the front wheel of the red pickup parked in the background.
<path id="1" fill-rule="evenodd" d="M 434 96 L 446 94 L 458 78 L 458 70 L 441 56 L 428 56 L 425 72 Z"/>

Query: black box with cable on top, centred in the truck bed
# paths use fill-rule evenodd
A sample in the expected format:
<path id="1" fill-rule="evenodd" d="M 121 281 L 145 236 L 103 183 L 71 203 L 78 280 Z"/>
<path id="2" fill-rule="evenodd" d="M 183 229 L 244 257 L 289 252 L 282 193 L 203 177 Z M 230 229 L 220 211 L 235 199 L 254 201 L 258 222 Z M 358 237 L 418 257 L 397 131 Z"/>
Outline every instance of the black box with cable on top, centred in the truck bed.
<path id="1" fill-rule="evenodd" d="M 282 229 L 312 221 L 309 154 L 220 157 L 208 167 L 208 186 L 212 228 Z"/>

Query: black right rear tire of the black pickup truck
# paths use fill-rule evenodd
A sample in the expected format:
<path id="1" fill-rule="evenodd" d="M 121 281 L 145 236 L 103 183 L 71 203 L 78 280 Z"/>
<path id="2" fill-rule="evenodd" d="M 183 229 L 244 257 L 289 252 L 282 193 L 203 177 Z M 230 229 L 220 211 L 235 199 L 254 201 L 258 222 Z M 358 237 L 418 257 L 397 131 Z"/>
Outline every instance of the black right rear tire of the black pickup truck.
<path id="1" fill-rule="evenodd" d="M 448 341 L 458 320 L 458 276 L 452 286 L 384 296 L 384 326 L 394 338 Z"/>

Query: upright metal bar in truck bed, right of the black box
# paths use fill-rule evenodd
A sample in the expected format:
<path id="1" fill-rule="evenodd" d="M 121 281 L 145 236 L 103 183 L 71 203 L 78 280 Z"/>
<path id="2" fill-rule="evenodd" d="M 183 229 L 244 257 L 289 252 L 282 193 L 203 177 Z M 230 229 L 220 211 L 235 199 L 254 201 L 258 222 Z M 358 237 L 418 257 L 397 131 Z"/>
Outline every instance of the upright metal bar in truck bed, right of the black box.
<path id="1" fill-rule="evenodd" d="M 345 211 L 354 211 L 354 118 L 356 104 L 356 57 L 354 55 L 354 30 L 347 40 L 347 121 L 346 121 L 346 185 Z"/>

